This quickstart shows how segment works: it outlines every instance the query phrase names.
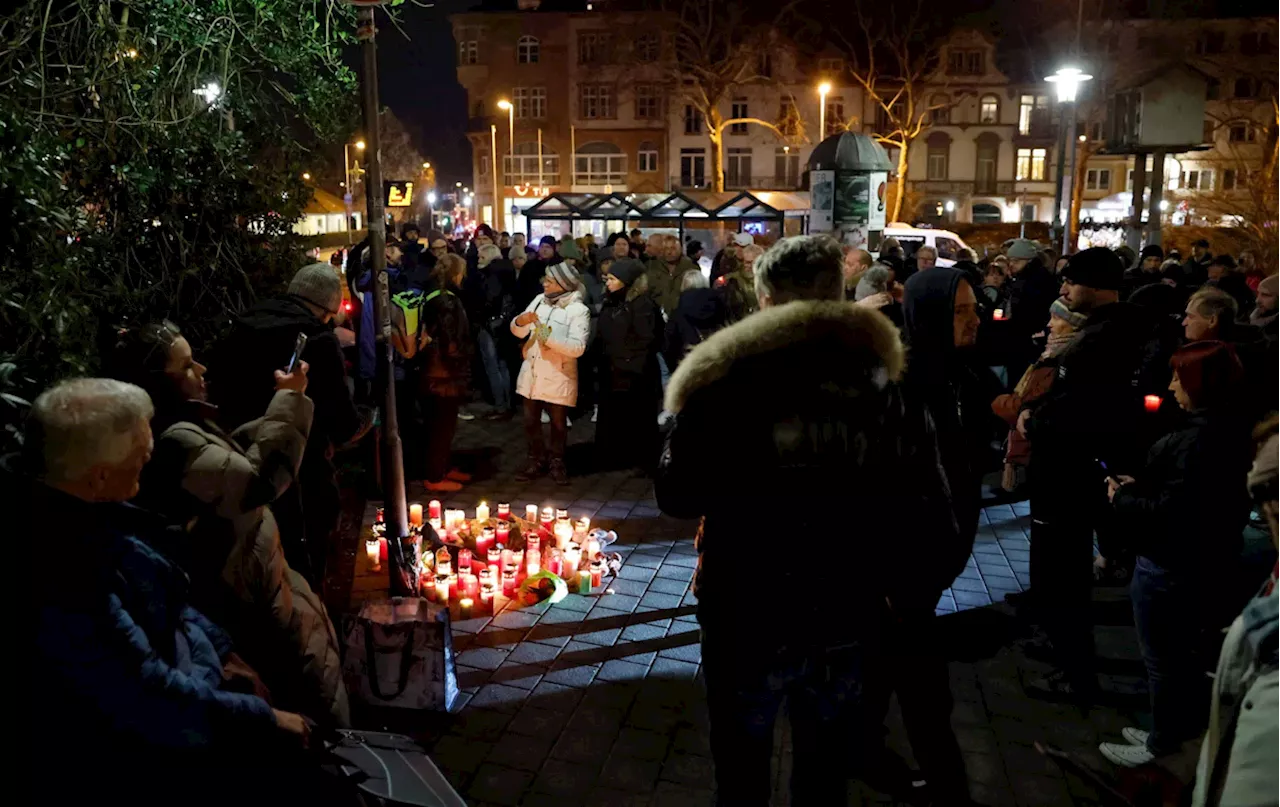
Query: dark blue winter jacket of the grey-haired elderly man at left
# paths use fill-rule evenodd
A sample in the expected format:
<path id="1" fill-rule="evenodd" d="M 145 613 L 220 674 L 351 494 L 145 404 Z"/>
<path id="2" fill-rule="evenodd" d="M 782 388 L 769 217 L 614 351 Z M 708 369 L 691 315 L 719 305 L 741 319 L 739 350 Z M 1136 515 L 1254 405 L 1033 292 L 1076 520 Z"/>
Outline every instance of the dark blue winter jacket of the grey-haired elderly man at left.
<path id="1" fill-rule="evenodd" d="M 225 688 L 230 638 L 191 606 L 182 570 L 142 541 L 163 546 L 163 521 L 29 479 L 4 487 L 22 502 L 6 507 L 10 526 L 32 535 L 55 518 L 58 553 L 74 564 L 70 584 L 32 585 L 23 602 L 35 617 L 35 657 L 20 658 L 38 708 L 19 707 L 32 725 L 18 731 L 35 762 L 24 772 L 41 783 L 44 801 L 70 803 L 78 792 L 106 803 L 173 803 L 165 789 L 189 785 L 184 774 L 212 776 L 220 765 L 237 770 L 280 751 L 266 701 Z M 47 753 L 70 746 L 87 749 L 73 771 L 64 753 Z"/>

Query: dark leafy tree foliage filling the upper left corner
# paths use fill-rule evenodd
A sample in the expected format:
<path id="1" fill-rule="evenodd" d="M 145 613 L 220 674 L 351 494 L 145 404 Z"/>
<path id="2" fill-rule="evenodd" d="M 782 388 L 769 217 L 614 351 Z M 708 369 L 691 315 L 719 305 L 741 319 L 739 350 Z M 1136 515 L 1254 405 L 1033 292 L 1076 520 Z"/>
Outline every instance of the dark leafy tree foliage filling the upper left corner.
<path id="1" fill-rule="evenodd" d="M 337 0 L 63 0 L 0 18 L 0 361 L 29 393 L 127 323 L 197 348 L 305 259 L 305 143 L 344 136 Z M 17 379 L 17 380 L 14 380 Z"/>

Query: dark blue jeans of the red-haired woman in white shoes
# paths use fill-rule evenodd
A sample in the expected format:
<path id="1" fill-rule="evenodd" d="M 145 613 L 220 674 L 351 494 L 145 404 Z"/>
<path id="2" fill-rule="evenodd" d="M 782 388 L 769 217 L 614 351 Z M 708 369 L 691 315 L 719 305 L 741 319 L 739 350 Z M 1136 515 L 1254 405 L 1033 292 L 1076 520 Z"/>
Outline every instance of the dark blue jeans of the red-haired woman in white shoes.
<path id="1" fill-rule="evenodd" d="M 1208 725 L 1210 680 L 1201 655 L 1201 582 L 1138 556 L 1129 596 L 1151 696 L 1147 748 L 1178 751 Z"/>

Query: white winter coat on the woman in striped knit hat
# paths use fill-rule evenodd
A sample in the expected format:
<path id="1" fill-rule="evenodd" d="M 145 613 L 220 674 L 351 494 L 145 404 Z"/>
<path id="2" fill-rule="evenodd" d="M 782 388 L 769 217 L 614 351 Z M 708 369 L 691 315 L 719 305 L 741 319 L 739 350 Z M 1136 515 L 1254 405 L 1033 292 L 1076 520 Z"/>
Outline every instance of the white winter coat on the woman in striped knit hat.
<path id="1" fill-rule="evenodd" d="M 516 395 L 530 401 L 573 406 L 577 402 L 577 357 L 586 352 L 591 332 L 591 313 L 582 304 L 582 292 L 573 291 L 550 302 L 538 295 L 524 313 L 538 314 L 538 323 L 517 325 L 511 332 L 525 343 L 525 363 L 520 366 Z"/>

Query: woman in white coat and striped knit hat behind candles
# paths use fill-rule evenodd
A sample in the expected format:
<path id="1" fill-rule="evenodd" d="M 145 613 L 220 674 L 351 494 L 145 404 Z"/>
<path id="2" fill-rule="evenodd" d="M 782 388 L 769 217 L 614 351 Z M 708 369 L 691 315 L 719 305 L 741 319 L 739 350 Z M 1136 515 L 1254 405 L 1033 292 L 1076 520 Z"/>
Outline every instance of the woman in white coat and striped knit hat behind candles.
<path id="1" fill-rule="evenodd" d="M 549 471 L 556 484 L 568 484 L 568 410 L 577 402 L 577 357 L 586 351 L 590 330 L 591 313 L 582 304 L 581 277 L 564 263 L 547 266 L 543 293 L 511 322 L 516 338 L 527 339 L 516 380 L 516 395 L 525 398 L 529 441 L 529 462 L 516 474 L 521 482 Z M 544 411 L 552 423 L 549 451 L 543 444 Z"/>

